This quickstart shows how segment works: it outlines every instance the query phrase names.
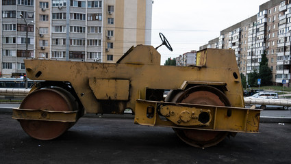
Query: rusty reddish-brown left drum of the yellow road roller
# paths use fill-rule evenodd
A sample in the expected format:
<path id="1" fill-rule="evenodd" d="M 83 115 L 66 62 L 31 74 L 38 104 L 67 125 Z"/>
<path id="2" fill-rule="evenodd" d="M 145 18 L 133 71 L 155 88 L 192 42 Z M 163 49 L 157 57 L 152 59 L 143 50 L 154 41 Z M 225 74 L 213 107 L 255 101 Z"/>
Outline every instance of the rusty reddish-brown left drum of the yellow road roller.
<path id="1" fill-rule="evenodd" d="M 31 92 L 23 100 L 19 108 L 48 111 L 76 111 L 77 107 L 77 101 L 69 92 L 60 87 L 52 87 Z M 75 124 L 72 122 L 43 120 L 18 121 L 29 136 L 40 140 L 55 139 Z"/>

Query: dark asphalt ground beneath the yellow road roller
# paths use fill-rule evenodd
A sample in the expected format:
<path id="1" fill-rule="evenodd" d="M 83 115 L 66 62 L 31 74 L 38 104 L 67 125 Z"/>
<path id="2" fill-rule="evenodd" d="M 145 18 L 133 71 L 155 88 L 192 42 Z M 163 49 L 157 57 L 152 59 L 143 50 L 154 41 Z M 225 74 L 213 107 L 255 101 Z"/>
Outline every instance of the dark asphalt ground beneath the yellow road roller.
<path id="1" fill-rule="evenodd" d="M 0 113 L 0 163 L 290 163 L 291 124 L 261 123 L 212 148 L 192 148 L 171 128 L 129 118 L 81 118 L 53 141 L 32 139 Z"/>

